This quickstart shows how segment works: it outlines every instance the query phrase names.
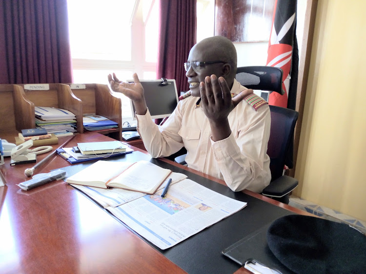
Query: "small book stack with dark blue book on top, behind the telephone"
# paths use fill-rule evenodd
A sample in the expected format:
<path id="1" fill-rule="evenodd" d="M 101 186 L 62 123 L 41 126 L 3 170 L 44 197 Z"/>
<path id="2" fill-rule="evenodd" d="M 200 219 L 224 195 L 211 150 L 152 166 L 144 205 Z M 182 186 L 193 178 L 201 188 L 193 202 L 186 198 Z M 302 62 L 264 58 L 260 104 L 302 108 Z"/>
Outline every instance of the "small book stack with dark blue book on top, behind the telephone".
<path id="1" fill-rule="evenodd" d="M 34 146 L 52 145 L 59 142 L 56 135 L 49 134 L 42 128 L 23 129 L 18 134 L 18 137 L 15 137 L 16 145 L 20 145 L 28 140 L 33 140 Z"/>

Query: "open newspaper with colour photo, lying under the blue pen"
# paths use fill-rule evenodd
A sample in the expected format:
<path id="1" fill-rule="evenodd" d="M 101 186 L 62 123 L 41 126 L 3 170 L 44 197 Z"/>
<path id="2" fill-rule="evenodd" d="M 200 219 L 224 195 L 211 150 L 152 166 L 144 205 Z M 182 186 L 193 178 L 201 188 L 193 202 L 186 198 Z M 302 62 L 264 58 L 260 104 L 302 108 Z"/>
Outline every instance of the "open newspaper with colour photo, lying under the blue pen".
<path id="1" fill-rule="evenodd" d="M 183 179 L 154 195 L 106 208 L 136 233 L 167 249 L 246 206 L 202 185 Z"/>

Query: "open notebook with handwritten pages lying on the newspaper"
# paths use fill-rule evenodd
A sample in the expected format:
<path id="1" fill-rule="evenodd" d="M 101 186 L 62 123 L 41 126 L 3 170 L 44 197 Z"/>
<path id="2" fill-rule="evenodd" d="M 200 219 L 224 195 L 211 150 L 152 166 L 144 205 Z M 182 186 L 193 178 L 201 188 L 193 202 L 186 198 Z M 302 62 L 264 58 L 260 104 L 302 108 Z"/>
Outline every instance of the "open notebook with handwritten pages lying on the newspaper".
<path id="1" fill-rule="evenodd" d="M 99 160 L 66 179 L 67 183 L 99 188 L 121 188 L 153 195 L 171 174 L 171 170 L 148 161 L 126 168 L 124 162 Z"/>

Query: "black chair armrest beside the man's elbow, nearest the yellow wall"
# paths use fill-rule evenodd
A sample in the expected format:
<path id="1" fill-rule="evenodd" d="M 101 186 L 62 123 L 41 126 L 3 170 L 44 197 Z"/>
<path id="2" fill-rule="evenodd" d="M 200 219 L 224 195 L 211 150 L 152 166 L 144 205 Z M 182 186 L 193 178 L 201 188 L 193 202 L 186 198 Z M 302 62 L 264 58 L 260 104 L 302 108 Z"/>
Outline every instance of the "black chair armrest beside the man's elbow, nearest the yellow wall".
<path id="1" fill-rule="evenodd" d="M 299 184 L 299 181 L 290 176 L 281 176 L 271 182 L 262 192 L 264 196 L 283 197 L 293 191 Z"/>

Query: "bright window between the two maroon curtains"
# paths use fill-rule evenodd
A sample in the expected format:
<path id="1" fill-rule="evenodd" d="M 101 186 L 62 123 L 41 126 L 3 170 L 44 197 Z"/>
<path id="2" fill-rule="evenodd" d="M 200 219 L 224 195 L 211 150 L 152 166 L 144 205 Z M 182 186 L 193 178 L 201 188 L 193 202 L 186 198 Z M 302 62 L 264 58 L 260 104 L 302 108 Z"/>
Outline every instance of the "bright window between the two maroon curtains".
<path id="1" fill-rule="evenodd" d="M 156 79 L 159 0 L 69 0 L 69 33 L 75 83 L 108 84 L 136 72 Z M 129 99 L 122 98 L 122 119 L 132 119 Z"/>

